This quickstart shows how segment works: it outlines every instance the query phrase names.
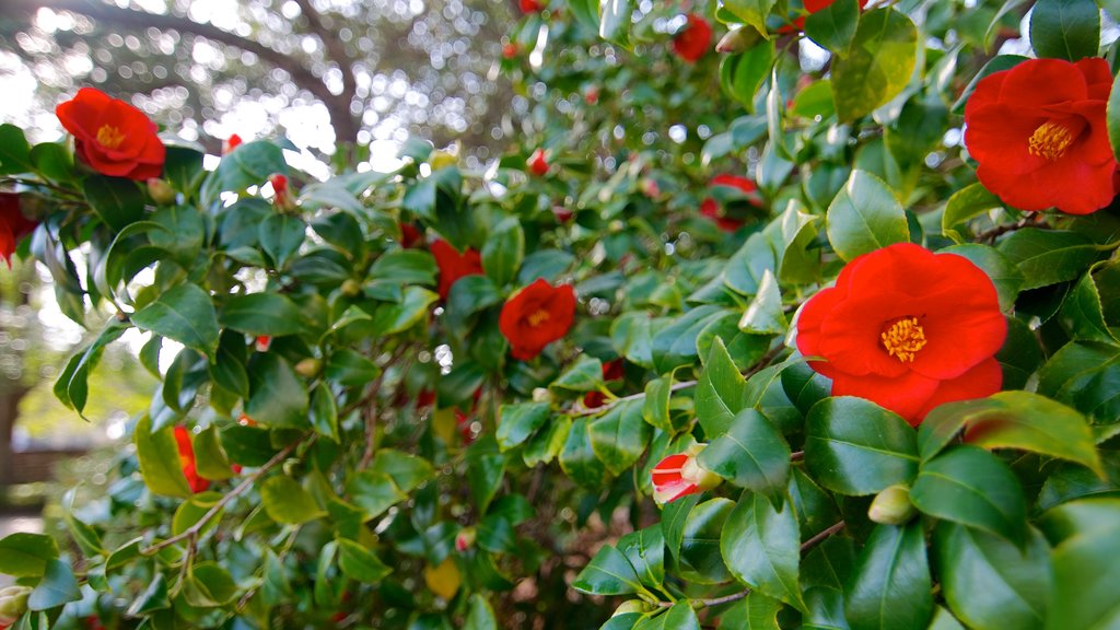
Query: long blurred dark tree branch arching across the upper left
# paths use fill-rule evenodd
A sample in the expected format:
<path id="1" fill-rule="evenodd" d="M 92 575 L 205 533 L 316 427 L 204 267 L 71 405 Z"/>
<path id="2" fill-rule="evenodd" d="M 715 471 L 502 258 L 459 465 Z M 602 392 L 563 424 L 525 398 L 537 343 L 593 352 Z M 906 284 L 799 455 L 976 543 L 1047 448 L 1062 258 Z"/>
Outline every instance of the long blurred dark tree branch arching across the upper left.
<path id="1" fill-rule="evenodd" d="M 205 37 L 206 39 L 213 39 L 214 41 L 221 41 L 227 46 L 233 46 L 234 48 L 253 53 L 273 66 L 286 71 L 291 75 L 292 80 L 298 85 L 305 87 L 308 92 L 314 94 L 315 98 L 323 101 L 323 104 L 327 105 L 327 109 L 330 110 L 333 114 L 338 106 L 343 106 L 344 111 L 347 113 L 347 120 L 332 120 L 333 123 L 342 126 L 349 121 L 349 123 L 353 124 L 353 121 L 348 118 L 349 99 L 344 99 L 340 95 L 333 94 L 330 90 L 327 89 L 327 85 L 323 82 L 323 80 L 316 76 L 310 68 L 305 65 L 293 63 L 295 59 L 292 59 L 291 56 L 274 48 L 270 48 L 260 41 L 254 41 L 227 30 L 222 30 L 213 25 L 196 22 L 179 16 L 122 9 L 120 7 L 105 4 L 104 2 L 100 2 L 97 0 L 6 0 L 4 8 L 13 12 L 22 10 L 27 13 L 35 13 L 35 11 L 39 8 L 48 8 L 56 11 L 69 11 L 72 13 L 83 15 L 97 21 L 111 22 L 118 26 L 132 27 L 137 29 L 156 27 L 160 30 L 178 30 L 180 33 L 189 33 L 199 37 Z M 340 101 L 345 101 L 345 103 L 342 103 Z"/>

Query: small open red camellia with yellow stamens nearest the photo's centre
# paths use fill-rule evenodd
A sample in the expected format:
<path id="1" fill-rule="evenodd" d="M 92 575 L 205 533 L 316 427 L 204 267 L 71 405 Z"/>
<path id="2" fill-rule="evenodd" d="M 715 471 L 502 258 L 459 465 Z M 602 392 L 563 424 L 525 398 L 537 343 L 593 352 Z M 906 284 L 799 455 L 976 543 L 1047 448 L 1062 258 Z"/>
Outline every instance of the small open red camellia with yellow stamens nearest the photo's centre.
<path id="1" fill-rule="evenodd" d="M 497 326 L 510 340 L 510 354 L 529 361 L 566 335 L 575 319 L 576 290 L 571 285 L 553 287 L 538 278 L 505 303 Z"/>

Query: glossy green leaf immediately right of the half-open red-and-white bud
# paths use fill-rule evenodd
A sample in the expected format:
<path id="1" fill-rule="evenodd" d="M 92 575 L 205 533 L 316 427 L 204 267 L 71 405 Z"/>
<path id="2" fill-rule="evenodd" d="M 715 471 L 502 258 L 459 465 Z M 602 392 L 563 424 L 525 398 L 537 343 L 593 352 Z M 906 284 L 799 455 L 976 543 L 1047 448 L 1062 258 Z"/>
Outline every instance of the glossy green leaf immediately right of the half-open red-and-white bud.
<path id="1" fill-rule="evenodd" d="M 775 507 L 782 504 L 790 480 L 790 445 L 758 410 L 739 411 L 698 461 L 735 485 L 769 498 Z"/>

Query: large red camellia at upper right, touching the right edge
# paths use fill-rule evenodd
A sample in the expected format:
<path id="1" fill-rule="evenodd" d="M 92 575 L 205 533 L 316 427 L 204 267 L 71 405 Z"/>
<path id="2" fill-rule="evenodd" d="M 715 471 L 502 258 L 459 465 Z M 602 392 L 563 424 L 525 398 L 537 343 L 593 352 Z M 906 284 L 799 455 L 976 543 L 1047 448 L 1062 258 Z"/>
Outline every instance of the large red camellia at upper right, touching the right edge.
<path id="1" fill-rule="evenodd" d="M 980 183 L 1019 210 L 1109 205 L 1120 192 L 1104 122 L 1111 86 L 1101 58 L 1028 59 L 980 80 L 964 106 Z"/>

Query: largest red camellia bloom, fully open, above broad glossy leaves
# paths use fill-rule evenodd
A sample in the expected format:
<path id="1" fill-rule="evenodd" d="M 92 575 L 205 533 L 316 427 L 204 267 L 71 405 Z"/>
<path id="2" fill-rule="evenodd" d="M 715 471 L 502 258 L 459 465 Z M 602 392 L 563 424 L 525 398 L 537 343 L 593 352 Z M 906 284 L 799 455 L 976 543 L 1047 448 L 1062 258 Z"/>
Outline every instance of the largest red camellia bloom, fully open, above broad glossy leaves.
<path id="1" fill-rule="evenodd" d="M 991 279 L 967 258 L 911 243 L 857 257 L 797 318 L 797 350 L 832 379 L 917 426 L 945 402 L 999 391 L 1007 322 Z"/>

